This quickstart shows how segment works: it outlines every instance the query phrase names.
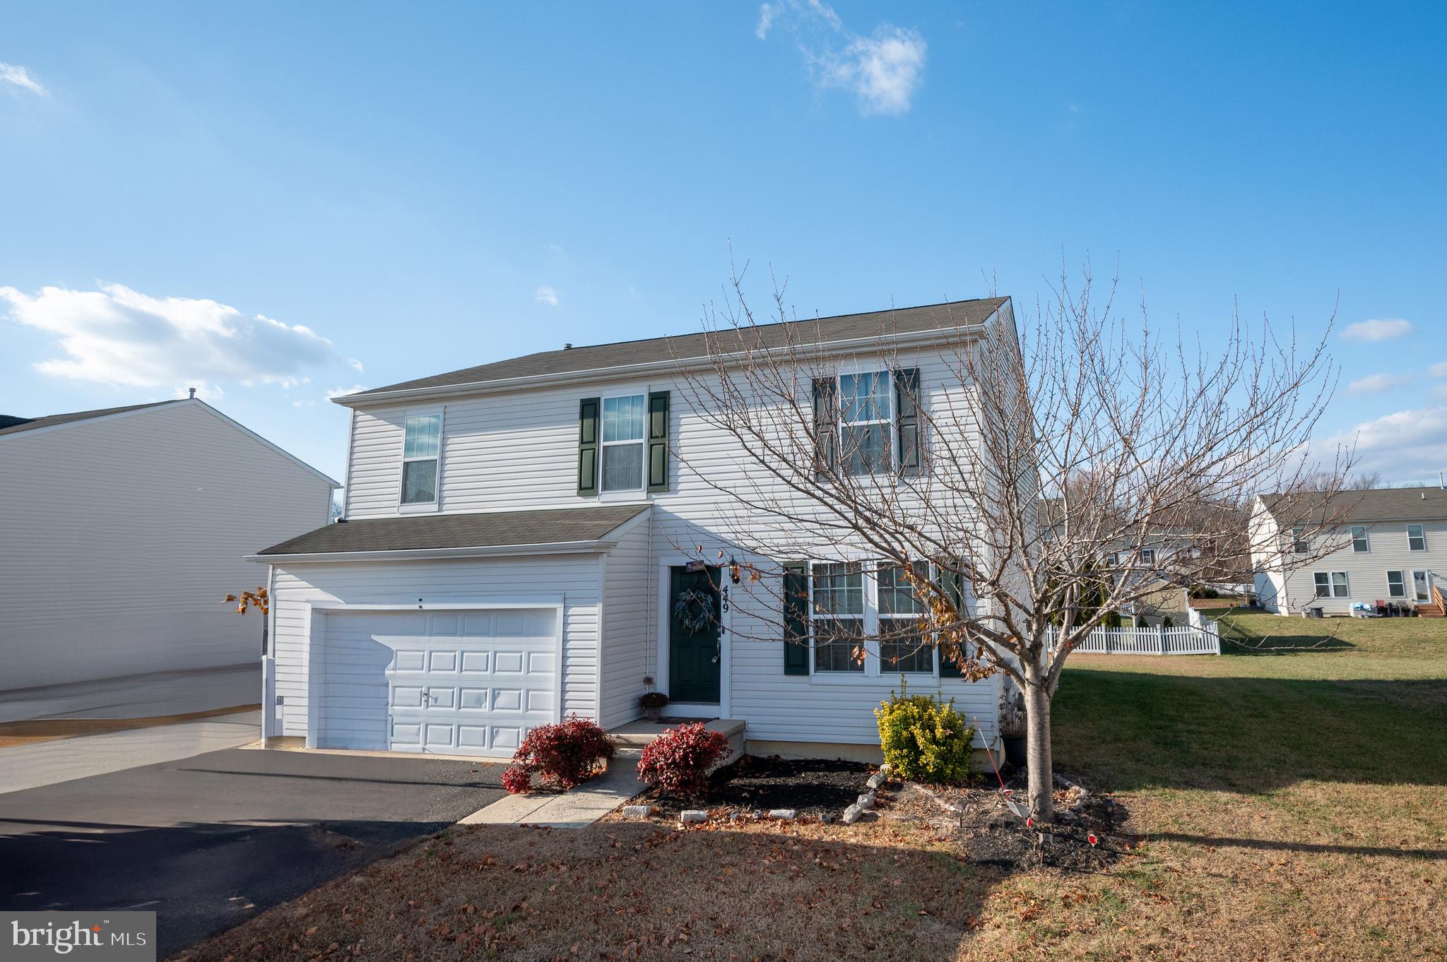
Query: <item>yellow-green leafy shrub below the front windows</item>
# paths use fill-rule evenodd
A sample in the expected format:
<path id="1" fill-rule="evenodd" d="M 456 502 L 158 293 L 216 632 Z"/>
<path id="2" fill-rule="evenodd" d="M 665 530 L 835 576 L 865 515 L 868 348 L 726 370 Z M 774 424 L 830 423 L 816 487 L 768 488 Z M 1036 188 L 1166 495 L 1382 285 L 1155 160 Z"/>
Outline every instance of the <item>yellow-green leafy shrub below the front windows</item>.
<path id="1" fill-rule="evenodd" d="M 974 777 L 971 742 L 975 729 L 955 710 L 955 700 L 907 694 L 903 678 L 896 694 L 874 709 L 880 748 L 890 774 L 913 781 L 959 784 Z"/>

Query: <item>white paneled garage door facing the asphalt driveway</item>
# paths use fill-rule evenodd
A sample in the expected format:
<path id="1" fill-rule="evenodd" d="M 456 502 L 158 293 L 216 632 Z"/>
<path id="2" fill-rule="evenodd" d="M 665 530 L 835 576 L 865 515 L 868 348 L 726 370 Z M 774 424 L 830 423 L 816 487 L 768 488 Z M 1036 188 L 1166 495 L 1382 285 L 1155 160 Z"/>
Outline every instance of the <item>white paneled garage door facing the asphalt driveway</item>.
<path id="1" fill-rule="evenodd" d="M 511 758 L 528 729 L 556 720 L 556 609 L 333 613 L 327 642 L 334 745 L 360 748 L 370 731 L 392 751 Z"/>

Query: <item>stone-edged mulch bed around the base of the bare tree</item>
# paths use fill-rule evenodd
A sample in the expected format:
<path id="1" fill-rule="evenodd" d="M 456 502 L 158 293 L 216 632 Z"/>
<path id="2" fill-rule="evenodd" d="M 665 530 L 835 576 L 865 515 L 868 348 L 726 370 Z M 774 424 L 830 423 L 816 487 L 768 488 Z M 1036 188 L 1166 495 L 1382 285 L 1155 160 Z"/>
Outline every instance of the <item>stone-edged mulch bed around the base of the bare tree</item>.
<path id="1" fill-rule="evenodd" d="M 1006 780 L 1006 796 L 998 783 L 969 788 L 910 786 L 896 796 L 896 817 L 928 822 L 941 838 L 955 842 L 968 862 L 1007 869 L 1059 868 L 1097 872 L 1130 854 L 1136 838 L 1124 830 L 1130 817 L 1124 806 L 1101 794 L 1087 796 L 1085 804 L 1066 814 L 1075 796 L 1055 793 L 1055 825 L 1027 826 L 1013 813 L 1010 799 L 1026 804 L 1023 771 Z M 933 797 L 930 797 L 933 796 Z M 938 801 L 936 801 L 938 800 Z M 939 801 L 955 807 L 946 812 Z M 1095 842 L 1091 843 L 1091 836 Z"/>

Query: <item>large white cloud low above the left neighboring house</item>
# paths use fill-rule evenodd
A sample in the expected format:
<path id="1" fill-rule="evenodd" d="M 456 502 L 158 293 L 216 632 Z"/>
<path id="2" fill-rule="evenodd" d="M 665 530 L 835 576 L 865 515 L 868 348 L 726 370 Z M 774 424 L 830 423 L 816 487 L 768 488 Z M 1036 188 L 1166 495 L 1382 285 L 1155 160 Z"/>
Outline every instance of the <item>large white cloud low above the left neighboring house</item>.
<path id="1" fill-rule="evenodd" d="M 153 298 L 120 284 L 98 291 L 0 286 L 14 321 L 55 336 L 58 357 L 35 365 L 52 378 L 132 388 L 302 383 L 344 359 L 305 324 L 246 317 L 204 298 Z M 179 388 L 178 388 L 179 389 Z M 182 393 L 184 396 L 184 393 Z"/>

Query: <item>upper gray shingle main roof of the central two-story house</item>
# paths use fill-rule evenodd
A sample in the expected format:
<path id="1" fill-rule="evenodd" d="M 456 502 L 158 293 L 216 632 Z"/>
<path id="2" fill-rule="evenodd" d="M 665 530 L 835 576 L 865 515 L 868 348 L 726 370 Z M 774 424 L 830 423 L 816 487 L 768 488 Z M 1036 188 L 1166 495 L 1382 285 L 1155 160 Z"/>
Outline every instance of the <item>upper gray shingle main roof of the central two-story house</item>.
<path id="1" fill-rule="evenodd" d="M 431 378 L 417 378 L 402 380 L 385 388 L 372 388 L 347 395 L 350 398 L 366 398 L 368 395 L 389 391 L 412 391 L 420 388 L 451 388 L 457 385 L 485 383 L 489 380 L 508 380 L 512 378 L 532 378 L 540 375 L 580 373 L 585 370 L 601 370 L 621 367 L 625 365 L 645 365 L 650 362 L 683 360 L 692 357 L 706 357 L 709 354 L 709 339 L 718 339 L 718 347 L 725 353 L 737 350 L 748 343 L 751 347 L 780 347 L 787 343 L 822 344 L 828 341 L 887 337 L 891 334 L 912 334 L 917 331 L 948 330 L 981 324 L 994 314 L 1009 298 L 983 298 L 977 301 L 948 301 L 943 304 L 926 304 L 922 307 L 906 307 L 888 311 L 870 311 L 867 314 L 841 314 L 838 317 L 820 317 L 803 321 L 787 321 L 780 324 L 760 324 L 752 328 L 735 331 L 725 328 L 713 333 L 699 331 L 696 334 L 679 334 L 674 337 L 653 337 L 635 341 L 618 341 L 614 344 L 593 344 L 589 347 L 572 347 L 567 350 L 546 350 L 522 357 L 509 357 L 476 367 L 463 367 Z M 745 341 L 752 339 L 757 341 Z"/>

